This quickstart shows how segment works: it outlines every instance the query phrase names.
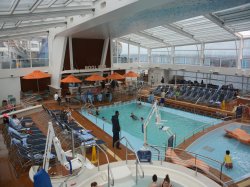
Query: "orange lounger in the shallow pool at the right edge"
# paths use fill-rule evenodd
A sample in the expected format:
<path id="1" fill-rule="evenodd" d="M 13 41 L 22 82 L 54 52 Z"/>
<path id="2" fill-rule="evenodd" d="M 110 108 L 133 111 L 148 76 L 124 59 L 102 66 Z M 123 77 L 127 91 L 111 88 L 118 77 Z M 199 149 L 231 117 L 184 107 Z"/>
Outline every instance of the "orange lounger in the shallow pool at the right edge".
<path id="1" fill-rule="evenodd" d="M 250 144 L 250 134 L 248 134 L 246 131 L 239 128 L 236 128 L 234 130 L 225 129 L 225 131 L 226 131 L 226 136 L 235 138 L 242 143 Z"/>

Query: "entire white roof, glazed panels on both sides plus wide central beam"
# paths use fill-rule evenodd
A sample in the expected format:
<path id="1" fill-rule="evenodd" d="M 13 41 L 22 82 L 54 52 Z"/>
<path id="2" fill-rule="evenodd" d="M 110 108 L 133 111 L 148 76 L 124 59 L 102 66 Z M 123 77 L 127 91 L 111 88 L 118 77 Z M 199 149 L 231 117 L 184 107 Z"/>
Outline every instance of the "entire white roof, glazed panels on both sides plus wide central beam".
<path id="1" fill-rule="evenodd" d="M 95 17 L 97 2 L 0 0 L 0 39 L 62 27 L 63 36 L 119 38 L 159 48 L 235 40 L 242 37 L 239 32 L 250 30 L 250 0 L 138 0 Z M 67 27 L 67 18 L 76 15 L 92 18 Z"/>

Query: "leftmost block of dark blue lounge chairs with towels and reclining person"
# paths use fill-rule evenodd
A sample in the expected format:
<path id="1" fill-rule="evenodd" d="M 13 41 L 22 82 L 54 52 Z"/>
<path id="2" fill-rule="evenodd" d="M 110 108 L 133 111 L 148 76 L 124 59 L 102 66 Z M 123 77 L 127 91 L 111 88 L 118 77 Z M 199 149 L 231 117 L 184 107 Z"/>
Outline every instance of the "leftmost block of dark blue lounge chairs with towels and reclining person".
<path id="1" fill-rule="evenodd" d="M 32 165 L 42 165 L 46 145 L 46 136 L 29 117 L 19 119 L 22 128 L 14 124 L 12 118 L 4 124 L 3 137 L 9 151 L 9 160 L 17 176 Z M 29 124 L 29 127 L 25 125 Z M 18 127 L 18 128 L 17 128 Z M 52 151 L 53 152 L 53 151 Z M 55 159 L 51 154 L 51 162 Z"/>

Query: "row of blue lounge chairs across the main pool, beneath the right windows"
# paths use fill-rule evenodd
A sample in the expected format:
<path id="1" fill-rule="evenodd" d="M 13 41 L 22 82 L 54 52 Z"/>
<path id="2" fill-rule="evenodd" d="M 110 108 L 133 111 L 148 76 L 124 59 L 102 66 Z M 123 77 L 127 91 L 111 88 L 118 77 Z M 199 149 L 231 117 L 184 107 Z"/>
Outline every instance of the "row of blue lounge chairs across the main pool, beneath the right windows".
<path id="1" fill-rule="evenodd" d="M 220 106 L 223 101 L 229 102 L 234 98 L 236 92 L 234 89 L 218 89 L 189 85 L 174 88 L 174 86 L 160 85 L 152 93 L 160 96 L 162 91 L 166 93 L 166 98 L 176 98 L 178 100 L 208 106 Z"/>

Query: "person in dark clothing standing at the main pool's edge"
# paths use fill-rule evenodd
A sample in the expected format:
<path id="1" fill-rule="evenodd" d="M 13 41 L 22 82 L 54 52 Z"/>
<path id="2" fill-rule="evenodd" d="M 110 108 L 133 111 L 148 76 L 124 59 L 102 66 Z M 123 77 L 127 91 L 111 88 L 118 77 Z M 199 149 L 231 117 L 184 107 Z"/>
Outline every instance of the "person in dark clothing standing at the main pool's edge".
<path id="1" fill-rule="evenodd" d="M 119 137 L 119 134 L 120 134 L 120 123 L 119 123 L 119 111 L 115 111 L 115 115 L 112 116 L 112 125 L 113 125 L 113 128 L 112 128 L 112 131 L 113 131 L 113 147 L 116 146 L 117 149 L 121 149 L 120 148 L 120 142 L 117 142 L 116 145 L 115 145 L 115 142 L 117 140 L 120 139 Z"/>

